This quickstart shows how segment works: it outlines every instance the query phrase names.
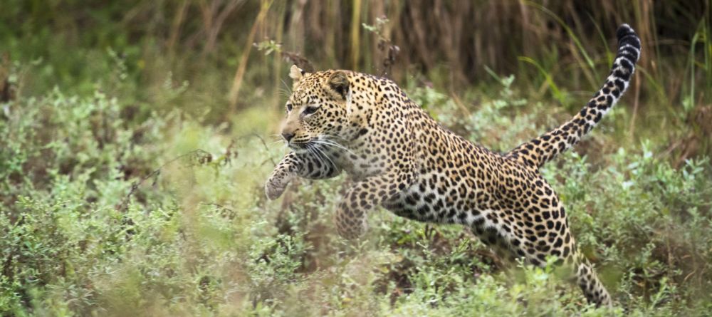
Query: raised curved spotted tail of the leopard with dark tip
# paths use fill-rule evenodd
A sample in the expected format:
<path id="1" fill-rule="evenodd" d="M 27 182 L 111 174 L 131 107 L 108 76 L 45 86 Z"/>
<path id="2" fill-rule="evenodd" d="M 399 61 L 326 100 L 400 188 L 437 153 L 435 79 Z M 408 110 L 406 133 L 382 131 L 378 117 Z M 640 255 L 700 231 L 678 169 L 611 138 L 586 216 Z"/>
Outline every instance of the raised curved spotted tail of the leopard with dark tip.
<path id="1" fill-rule="evenodd" d="M 635 71 L 635 63 L 640 56 L 640 38 L 627 24 L 619 26 L 618 53 L 611 73 L 603 87 L 598 90 L 587 105 L 571 120 L 544 135 L 519 145 L 507 157 L 523 164 L 541 167 L 557 154 L 574 146 L 595 127 L 618 99 L 623 95 Z"/>

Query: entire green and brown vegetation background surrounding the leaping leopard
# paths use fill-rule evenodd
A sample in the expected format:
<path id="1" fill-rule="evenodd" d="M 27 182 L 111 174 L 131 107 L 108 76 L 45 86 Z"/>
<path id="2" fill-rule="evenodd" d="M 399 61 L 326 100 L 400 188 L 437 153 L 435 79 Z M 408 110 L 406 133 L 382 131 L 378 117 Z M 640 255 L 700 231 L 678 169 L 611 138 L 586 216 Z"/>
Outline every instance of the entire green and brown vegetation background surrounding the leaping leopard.
<path id="1" fill-rule="evenodd" d="M 628 313 L 702 316 L 708 0 L 4 0 L 0 312 L 585 312 L 550 271 L 492 279 L 498 260 L 459 227 L 379 212 L 370 240 L 343 243 L 330 222 L 342 178 L 297 182 L 279 202 L 262 184 L 284 154 L 293 63 L 392 78 L 506 151 L 585 105 L 622 23 L 643 46 L 631 88 L 545 174 Z"/>

